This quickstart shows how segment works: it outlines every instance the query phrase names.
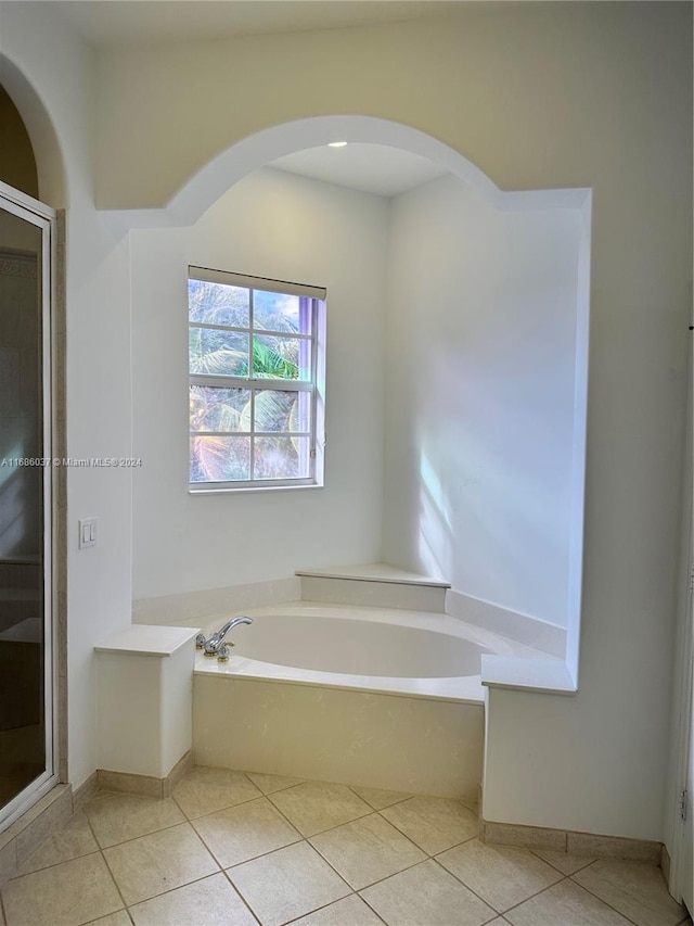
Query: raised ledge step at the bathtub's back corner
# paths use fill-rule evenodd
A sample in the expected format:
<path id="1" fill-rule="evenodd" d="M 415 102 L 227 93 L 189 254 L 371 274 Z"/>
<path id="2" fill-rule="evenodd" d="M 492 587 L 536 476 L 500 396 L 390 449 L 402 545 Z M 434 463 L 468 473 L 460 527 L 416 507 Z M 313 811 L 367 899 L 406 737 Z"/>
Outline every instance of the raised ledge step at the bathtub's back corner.
<path id="1" fill-rule="evenodd" d="M 386 563 L 297 569 L 301 599 L 444 613 L 450 583 Z"/>

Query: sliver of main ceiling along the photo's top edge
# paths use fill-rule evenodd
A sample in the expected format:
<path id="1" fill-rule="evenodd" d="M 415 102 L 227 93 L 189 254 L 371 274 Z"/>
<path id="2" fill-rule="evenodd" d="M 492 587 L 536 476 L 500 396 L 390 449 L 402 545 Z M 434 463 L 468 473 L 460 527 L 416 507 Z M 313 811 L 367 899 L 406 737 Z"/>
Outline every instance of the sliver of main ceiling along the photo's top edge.
<path id="1" fill-rule="evenodd" d="M 455 0 L 46 0 L 89 45 L 164 43 L 419 20 Z"/>

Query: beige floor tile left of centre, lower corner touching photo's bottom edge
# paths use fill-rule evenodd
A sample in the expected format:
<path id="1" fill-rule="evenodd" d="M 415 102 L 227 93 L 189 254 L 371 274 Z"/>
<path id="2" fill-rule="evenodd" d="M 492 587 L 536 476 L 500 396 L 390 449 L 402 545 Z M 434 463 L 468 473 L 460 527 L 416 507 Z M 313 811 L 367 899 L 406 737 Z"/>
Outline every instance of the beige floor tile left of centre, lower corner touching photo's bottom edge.
<path id="1" fill-rule="evenodd" d="M 350 893 L 307 842 L 245 862 L 227 874 L 262 926 L 280 926 Z"/>

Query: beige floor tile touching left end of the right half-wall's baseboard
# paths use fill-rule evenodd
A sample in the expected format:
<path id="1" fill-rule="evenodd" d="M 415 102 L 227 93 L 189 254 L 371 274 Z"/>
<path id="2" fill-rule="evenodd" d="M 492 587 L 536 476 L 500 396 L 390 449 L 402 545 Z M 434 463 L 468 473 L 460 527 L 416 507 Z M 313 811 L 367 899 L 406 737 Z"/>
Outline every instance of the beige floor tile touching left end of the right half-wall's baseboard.
<path id="1" fill-rule="evenodd" d="M 451 874 L 499 913 L 561 880 L 563 875 L 528 849 L 470 839 L 436 857 Z"/>

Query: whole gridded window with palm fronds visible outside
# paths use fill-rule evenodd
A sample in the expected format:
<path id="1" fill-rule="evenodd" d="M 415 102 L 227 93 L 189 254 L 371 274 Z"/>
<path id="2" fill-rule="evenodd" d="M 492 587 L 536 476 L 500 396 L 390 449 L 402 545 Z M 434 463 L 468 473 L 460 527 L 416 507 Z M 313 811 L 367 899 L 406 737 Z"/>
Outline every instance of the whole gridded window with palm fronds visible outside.
<path id="1" fill-rule="evenodd" d="M 325 290 L 189 267 L 190 487 L 322 485 Z"/>

